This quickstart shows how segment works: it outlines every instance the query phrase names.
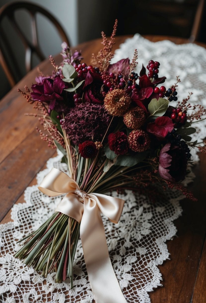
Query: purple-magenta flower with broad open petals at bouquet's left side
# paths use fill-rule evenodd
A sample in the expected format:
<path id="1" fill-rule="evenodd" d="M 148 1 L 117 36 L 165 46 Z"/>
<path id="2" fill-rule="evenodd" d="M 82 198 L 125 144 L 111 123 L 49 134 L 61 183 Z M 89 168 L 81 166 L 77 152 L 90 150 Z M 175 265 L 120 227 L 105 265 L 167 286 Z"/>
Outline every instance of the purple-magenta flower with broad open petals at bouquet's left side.
<path id="1" fill-rule="evenodd" d="M 34 101 L 46 102 L 49 104 L 49 111 L 55 108 L 56 102 L 63 101 L 62 92 L 66 87 L 60 76 L 51 78 L 37 78 L 38 83 L 33 84 L 31 96 Z"/>

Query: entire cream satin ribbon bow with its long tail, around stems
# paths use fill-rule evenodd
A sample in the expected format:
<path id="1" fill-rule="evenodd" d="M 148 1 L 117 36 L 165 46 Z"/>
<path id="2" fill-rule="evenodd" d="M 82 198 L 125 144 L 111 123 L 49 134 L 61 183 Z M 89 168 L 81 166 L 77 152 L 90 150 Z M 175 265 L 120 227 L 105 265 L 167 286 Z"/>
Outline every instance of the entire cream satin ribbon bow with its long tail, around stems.
<path id="1" fill-rule="evenodd" d="M 66 194 L 55 211 L 81 222 L 80 237 L 84 259 L 96 303 L 126 303 L 115 276 L 105 237 L 102 212 L 113 223 L 118 223 L 124 200 L 90 193 L 62 171 L 52 168 L 43 179 L 40 191 L 49 196 Z"/>

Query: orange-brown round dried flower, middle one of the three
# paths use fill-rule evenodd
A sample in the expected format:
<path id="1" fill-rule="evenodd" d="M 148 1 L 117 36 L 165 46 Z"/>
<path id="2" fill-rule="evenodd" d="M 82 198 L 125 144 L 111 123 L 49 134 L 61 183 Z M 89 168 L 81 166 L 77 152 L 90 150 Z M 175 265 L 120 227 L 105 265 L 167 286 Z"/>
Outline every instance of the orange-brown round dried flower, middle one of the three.
<path id="1" fill-rule="evenodd" d="M 145 112 L 140 107 L 134 107 L 124 114 L 124 124 L 130 129 L 139 129 L 145 118 Z"/>

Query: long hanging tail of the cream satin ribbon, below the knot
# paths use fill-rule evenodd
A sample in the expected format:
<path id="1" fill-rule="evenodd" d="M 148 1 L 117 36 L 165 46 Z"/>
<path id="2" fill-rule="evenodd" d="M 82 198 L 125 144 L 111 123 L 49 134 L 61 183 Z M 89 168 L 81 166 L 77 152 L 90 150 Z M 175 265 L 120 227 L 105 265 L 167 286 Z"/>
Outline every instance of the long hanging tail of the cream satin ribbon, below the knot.
<path id="1" fill-rule="evenodd" d="M 89 197 L 84 199 L 80 236 L 95 302 L 127 303 L 111 264 L 98 205 Z"/>

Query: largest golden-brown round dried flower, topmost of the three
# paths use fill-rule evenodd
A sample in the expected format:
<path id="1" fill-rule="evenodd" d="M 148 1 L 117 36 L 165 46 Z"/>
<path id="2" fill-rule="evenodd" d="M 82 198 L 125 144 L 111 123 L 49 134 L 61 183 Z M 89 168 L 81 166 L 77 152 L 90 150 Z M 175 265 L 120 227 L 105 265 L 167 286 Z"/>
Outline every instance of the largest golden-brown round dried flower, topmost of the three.
<path id="1" fill-rule="evenodd" d="M 122 116 L 127 111 L 131 99 L 126 95 L 123 89 L 114 89 L 108 92 L 105 99 L 105 109 L 112 116 Z"/>

